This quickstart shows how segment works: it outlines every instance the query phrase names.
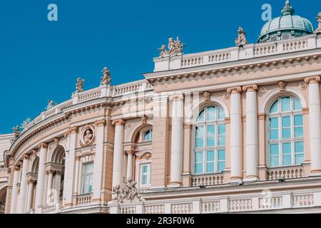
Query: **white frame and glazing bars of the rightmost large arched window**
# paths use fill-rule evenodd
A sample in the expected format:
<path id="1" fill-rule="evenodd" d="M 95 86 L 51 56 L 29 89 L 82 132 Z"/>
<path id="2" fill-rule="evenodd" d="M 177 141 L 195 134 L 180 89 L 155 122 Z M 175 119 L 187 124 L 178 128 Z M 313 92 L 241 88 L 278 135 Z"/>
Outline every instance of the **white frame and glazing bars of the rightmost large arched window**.
<path id="1" fill-rule="evenodd" d="M 290 110 L 289 111 L 282 111 L 282 98 L 290 97 Z M 303 143 L 303 152 L 297 153 L 297 154 L 303 154 L 303 160 L 305 157 L 305 138 L 304 138 L 304 115 L 301 110 L 294 110 L 294 99 L 297 99 L 300 102 L 300 99 L 298 99 L 294 95 L 282 95 L 279 98 L 275 99 L 272 105 L 274 105 L 276 102 L 278 102 L 277 107 L 277 113 L 270 113 L 270 110 L 267 115 L 267 167 L 270 168 L 279 168 L 279 167 L 292 167 L 292 166 L 298 166 L 301 164 L 295 164 L 295 142 L 302 142 Z M 272 105 L 270 106 L 270 109 L 272 108 Z M 302 105 L 302 104 L 301 104 Z M 294 117 L 296 115 L 302 115 L 302 124 L 303 125 L 294 125 Z M 282 130 L 284 129 L 282 126 L 282 117 L 288 117 L 290 116 L 290 133 L 291 137 L 283 139 L 282 138 Z M 270 118 L 277 118 L 278 123 L 278 139 L 277 140 L 270 140 Z M 302 137 L 295 137 L 295 127 L 302 127 L 303 128 L 303 134 Z M 275 129 L 276 128 L 272 128 Z M 283 165 L 283 143 L 290 143 L 291 145 L 291 165 Z M 270 145 L 277 144 L 278 150 L 279 150 L 279 165 L 278 166 L 272 166 L 271 165 L 271 147 Z"/>

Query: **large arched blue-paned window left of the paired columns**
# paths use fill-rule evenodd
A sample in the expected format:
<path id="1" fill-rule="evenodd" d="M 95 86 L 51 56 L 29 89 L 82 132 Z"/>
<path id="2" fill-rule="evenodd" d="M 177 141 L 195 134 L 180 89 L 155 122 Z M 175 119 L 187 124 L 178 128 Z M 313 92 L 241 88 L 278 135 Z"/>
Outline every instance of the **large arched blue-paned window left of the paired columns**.
<path id="1" fill-rule="evenodd" d="M 195 125 L 195 175 L 225 170 L 225 113 L 220 106 L 204 108 Z"/>

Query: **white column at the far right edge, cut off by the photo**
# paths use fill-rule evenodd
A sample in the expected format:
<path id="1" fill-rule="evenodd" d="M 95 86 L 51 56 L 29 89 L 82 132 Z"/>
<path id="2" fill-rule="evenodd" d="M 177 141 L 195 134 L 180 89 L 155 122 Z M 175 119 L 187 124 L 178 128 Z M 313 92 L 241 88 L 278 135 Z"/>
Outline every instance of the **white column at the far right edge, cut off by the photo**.
<path id="1" fill-rule="evenodd" d="M 305 78 L 309 83 L 309 130 L 311 173 L 321 172 L 320 76 Z"/>

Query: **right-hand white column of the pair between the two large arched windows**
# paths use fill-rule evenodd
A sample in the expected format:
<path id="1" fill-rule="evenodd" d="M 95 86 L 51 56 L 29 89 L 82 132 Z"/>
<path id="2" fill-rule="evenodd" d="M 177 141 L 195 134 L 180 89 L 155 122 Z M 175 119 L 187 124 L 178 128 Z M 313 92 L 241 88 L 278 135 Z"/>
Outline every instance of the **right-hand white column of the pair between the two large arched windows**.
<path id="1" fill-rule="evenodd" d="M 243 90 L 246 91 L 246 178 L 258 180 L 258 86 L 243 86 Z"/>

